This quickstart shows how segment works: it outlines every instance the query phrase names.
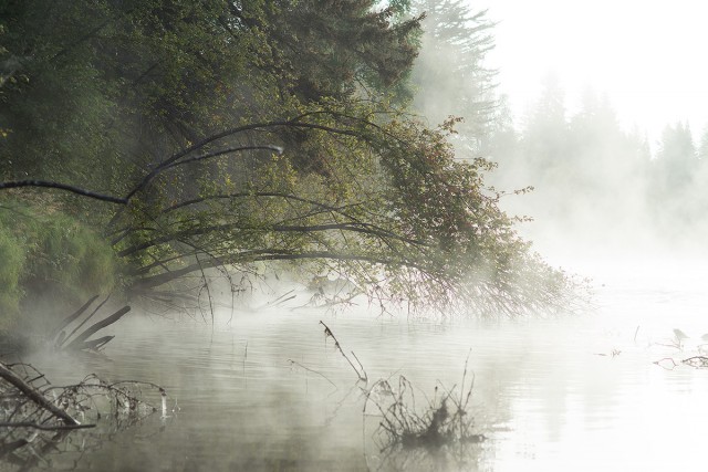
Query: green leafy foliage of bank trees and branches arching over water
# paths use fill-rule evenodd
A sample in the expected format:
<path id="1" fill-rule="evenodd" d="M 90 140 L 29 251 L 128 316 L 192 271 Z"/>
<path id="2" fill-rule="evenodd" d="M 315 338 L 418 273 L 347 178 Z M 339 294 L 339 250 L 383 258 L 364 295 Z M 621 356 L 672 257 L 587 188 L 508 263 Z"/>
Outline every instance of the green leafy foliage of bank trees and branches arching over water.
<path id="1" fill-rule="evenodd" d="M 29 84 L 0 88 L 0 127 L 12 129 L 0 140 L 0 172 L 123 197 L 115 212 L 62 203 L 105 225 L 136 291 L 283 261 L 337 271 L 386 300 L 442 308 L 471 297 L 480 311 L 514 313 L 531 301 L 516 290 L 521 268 L 546 268 L 485 188 L 490 162 L 455 159 L 459 120 L 430 129 L 397 108 L 420 34 L 421 18 L 404 19 L 406 9 L 6 6 L 17 34 L 1 44 L 19 54 L 29 36 L 31 61 Z M 46 251 L 60 261 L 56 252 Z"/>

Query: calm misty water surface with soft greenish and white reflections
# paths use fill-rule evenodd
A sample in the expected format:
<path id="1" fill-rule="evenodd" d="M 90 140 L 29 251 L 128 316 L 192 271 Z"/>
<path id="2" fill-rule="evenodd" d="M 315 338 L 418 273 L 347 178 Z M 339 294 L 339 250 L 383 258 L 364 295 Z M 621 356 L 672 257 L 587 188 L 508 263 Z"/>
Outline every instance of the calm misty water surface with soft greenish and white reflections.
<path id="1" fill-rule="evenodd" d="M 214 328 L 125 318 L 105 349 L 110 360 L 33 361 L 61 381 L 88 371 L 154 381 L 179 409 L 111 436 L 75 463 L 58 455 L 52 466 L 705 470 L 708 370 L 653 364 L 688 357 L 708 333 L 699 283 L 705 273 L 684 276 L 669 283 L 645 274 L 600 277 L 597 312 L 561 319 L 421 322 L 287 308 L 241 313 Z M 416 388 L 418 407 L 436 386 L 460 384 L 471 349 L 471 413 L 487 441 L 461 457 L 384 457 L 372 439 L 378 420 L 362 415 L 366 386 L 325 339 L 320 319 L 346 353 L 354 350 L 369 385 L 404 375 Z M 671 346 L 674 328 L 690 336 L 685 352 Z"/>

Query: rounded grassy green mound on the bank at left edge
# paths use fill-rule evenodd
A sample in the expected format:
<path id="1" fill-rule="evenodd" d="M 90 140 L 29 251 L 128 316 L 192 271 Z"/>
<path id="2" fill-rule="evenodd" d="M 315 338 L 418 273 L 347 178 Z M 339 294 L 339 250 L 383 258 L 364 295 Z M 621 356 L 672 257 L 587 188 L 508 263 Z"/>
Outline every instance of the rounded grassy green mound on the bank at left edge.
<path id="1" fill-rule="evenodd" d="M 14 327 L 21 313 L 61 311 L 118 281 L 115 253 L 101 234 L 38 201 L 0 200 L 0 331 Z"/>

